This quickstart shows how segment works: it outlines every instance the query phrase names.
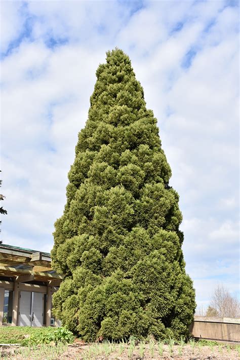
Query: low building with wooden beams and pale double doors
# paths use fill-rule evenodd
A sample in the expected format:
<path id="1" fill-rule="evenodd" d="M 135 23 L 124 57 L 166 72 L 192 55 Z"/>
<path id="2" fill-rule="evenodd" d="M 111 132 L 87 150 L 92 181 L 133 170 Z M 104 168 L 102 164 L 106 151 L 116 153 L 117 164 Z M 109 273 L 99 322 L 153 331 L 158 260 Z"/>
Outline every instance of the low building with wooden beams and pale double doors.
<path id="1" fill-rule="evenodd" d="M 61 280 L 49 253 L 0 244 L 0 326 L 59 326 L 52 294 Z"/>

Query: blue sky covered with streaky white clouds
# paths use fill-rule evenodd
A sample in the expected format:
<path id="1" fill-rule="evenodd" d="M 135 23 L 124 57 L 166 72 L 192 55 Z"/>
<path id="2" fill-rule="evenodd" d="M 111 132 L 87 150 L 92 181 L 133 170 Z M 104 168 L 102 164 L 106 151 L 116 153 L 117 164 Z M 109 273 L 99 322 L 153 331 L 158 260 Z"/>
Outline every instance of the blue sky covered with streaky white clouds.
<path id="1" fill-rule="evenodd" d="M 199 306 L 239 283 L 235 1 L 2 1 L 4 243 L 50 251 L 95 71 L 116 46 L 158 119 Z"/>

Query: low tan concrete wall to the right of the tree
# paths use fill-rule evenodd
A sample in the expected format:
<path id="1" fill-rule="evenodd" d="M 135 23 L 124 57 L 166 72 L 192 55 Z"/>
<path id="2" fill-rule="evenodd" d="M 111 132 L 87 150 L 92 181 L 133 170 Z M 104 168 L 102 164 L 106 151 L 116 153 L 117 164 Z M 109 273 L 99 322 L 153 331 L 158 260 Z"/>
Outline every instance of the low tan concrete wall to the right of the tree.
<path id="1" fill-rule="evenodd" d="M 194 338 L 240 341 L 240 319 L 194 316 L 190 333 Z"/>

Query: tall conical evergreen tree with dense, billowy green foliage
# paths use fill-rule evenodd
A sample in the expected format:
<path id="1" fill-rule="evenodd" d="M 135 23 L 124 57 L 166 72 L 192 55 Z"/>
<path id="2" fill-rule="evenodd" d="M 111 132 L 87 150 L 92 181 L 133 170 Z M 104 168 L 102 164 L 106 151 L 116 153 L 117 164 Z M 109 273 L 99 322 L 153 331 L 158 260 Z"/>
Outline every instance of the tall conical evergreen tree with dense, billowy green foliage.
<path id="1" fill-rule="evenodd" d="M 157 121 L 122 50 L 107 52 L 96 75 L 55 223 L 53 266 L 65 278 L 54 312 L 88 341 L 177 338 L 193 319 L 194 290 Z"/>

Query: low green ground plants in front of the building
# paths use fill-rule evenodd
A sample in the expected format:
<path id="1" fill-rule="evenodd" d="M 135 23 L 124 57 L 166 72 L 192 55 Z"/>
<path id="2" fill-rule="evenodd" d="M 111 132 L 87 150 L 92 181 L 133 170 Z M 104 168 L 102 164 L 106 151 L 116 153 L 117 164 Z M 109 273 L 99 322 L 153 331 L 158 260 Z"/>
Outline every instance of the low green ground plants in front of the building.
<path id="1" fill-rule="evenodd" d="M 0 327 L 0 344 L 71 343 L 73 340 L 73 334 L 65 328 Z"/>

